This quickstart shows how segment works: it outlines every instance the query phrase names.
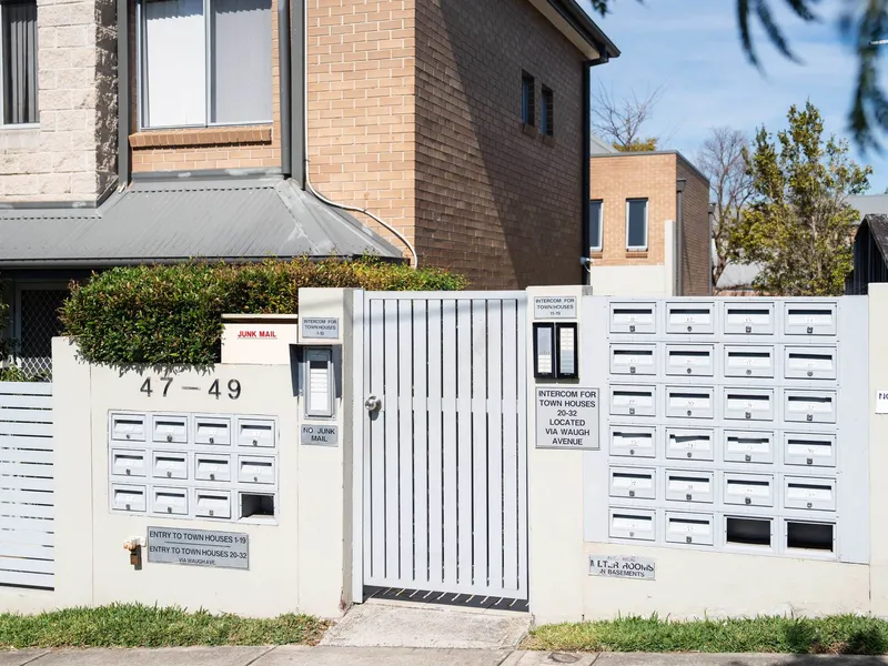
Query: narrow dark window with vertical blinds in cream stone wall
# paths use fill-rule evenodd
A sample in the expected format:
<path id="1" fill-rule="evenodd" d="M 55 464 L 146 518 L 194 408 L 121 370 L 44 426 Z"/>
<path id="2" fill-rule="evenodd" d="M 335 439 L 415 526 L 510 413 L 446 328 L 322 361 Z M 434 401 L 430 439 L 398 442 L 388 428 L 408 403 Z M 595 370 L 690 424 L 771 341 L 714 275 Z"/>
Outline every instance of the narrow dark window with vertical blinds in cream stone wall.
<path id="1" fill-rule="evenodd" d="M 3 124 L 37 122 L 37 1 L 0 0 Z"/>

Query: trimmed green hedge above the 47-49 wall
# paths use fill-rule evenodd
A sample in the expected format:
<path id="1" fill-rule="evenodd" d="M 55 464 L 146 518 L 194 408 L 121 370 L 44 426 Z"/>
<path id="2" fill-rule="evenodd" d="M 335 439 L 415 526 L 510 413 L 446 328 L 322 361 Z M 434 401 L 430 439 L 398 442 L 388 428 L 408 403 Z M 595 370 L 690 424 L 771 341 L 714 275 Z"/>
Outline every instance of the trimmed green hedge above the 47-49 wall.
<path id="1" fill-rule="evenodd" d="M 305 286 L 453 291 L 466 281 L 437 269 L 373 260 L 260 264 L 184 263 L 120 268 L 74 285 L 62 307 L 64 334 L 81 355 L 111 365 L 211 365 L 222 314 L 293 314 Z"/>

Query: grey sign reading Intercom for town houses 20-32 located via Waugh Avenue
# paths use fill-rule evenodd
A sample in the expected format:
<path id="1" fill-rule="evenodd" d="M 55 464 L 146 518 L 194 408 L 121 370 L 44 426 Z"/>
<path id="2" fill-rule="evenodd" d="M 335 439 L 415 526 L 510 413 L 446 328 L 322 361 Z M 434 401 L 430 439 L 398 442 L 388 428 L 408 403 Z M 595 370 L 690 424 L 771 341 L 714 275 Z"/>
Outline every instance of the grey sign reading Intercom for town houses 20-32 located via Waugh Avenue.
<path id="1" fill-rule="evenodd" d="M 599 448 L 598 390 L 537 387 L 536 447 Z"/>

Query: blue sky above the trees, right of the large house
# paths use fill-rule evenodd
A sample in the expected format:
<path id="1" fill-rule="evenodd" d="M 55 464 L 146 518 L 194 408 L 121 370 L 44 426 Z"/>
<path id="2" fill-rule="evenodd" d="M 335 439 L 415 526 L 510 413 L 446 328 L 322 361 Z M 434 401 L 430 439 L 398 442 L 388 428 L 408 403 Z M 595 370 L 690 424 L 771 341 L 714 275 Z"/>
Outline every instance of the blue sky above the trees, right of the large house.
<path id="1" fill-rule="evenodd" d="M 786 11 L 784 0 L 771 0 L 780 26 L 803 61 L 784 59 L 764 38 L 757 41 L 763 74 L 740 49 L 735 18 L 736 0 L 616 0 L 614 10 L 595 21 L 620 49 L 619 58 L 593 71 L 593 87 L 605 85 L 622 98 L 663 87 L 653 135 L 668 138 L 664 148 L 680 150 L 695 160 L 713 127 L 727 125 L 751 134 L 765 124 L 776 132 L 786 127 L 790 104 L 810 99 L 824 115 L 826 133 L 848 137 L 847 113 L 857 61 L 844 42 L 837 17 L 849 0 L 821 0 L 817 24 L 805 24 Z M 886 49 L 888 56 L 888 46 Z M 886 63 L 888 65 L 888 63 Z M 888 67 L 884 67 L 888 69 Z M 884 88 L 888 89 L 888 78 Z M 860 154 L 872 167 L 870 193 L 888 186 L 888 135 L 881 135 L 882 155 Z"/>

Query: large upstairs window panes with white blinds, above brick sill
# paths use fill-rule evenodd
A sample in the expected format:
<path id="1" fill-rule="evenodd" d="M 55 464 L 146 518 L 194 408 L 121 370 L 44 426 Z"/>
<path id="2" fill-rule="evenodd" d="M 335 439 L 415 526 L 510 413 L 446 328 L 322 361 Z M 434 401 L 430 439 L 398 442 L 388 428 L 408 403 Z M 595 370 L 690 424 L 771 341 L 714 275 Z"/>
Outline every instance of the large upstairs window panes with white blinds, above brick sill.
<path id="1" fill-rule="evenodd" d="M 271 122 L 271 0 L 143 0 L 142 127 Z"/>

